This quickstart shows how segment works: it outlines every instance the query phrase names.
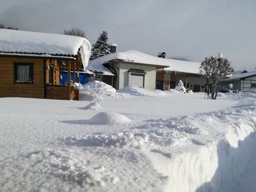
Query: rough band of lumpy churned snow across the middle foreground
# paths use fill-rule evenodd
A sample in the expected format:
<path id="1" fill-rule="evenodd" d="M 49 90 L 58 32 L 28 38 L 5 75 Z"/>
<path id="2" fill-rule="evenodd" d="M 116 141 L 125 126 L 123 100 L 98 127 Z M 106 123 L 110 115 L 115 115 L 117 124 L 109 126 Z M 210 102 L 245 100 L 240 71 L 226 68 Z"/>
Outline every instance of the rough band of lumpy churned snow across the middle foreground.
<path id="1" fill-rule="evenodd" d="M 101 115 L 100 119 L 102 119 Z M 97 123 L 99 124 L 99 122 Z M 169 120 L 148 120 L 147 125 L 129 131 L 65 138 L 65 143 L 82 145 L 83 147 L 97 146 L 154 150 L 154 152 L 157 151 L 157 153 L 166 156 L 169 153 L 164 152 L 164 147 L 182 145 L 189 140 L 191 135 L 200 134 L 205 134 L 205 132 L 196 127 L 195 124 L 191 124 L 189 118 L 172 118 Z M 160 150 L 160 148 L 162 149 Z"/>

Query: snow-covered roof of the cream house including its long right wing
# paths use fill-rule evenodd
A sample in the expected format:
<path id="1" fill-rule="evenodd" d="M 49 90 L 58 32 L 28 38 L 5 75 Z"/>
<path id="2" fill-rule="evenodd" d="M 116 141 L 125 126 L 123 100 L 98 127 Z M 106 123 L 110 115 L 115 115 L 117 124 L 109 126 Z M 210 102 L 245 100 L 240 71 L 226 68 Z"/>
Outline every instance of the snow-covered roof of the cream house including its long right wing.
<path id="1" fill-rule="evenodd" d="M 88 70 L 95 70 L 97 72 L 102 72 L 103 74 L 108 74 L 110 71 L 106 67 L 103 67 L 102 64 L 112 60 L 143 63 L 146 65 L 157 65 L 159 68 L 168 67 L 164 68 L 164 70 L 200 74 L 200 63 L 198 62 L 158 58 L 156 56 L 151 56 L 134 50 L 115 52 L 89 61 Z"/>

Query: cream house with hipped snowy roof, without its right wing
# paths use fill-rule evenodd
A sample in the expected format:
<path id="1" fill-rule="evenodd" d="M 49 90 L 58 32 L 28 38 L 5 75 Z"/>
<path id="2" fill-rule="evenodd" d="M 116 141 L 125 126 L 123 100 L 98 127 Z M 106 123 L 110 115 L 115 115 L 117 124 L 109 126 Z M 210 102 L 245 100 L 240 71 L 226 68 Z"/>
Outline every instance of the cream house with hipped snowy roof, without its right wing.
<path id="1" fill-rule="evenodd" d="M 116 89 L 124 86 L 156 88 L 156 70 L 170 67 L 168 60 L 139 51 L 113 52 L 88 63 L 87 69 L 95 73 L 92 80 L 111 84 Z"/>

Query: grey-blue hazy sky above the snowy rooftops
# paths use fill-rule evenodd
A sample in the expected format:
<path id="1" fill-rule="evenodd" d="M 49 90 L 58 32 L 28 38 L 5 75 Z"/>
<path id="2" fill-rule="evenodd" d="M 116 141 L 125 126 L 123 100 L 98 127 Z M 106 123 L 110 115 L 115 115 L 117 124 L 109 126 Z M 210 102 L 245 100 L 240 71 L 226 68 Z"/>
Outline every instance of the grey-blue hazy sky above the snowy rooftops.
<path id="1" fill-rule="evenodd" d="M 77 27 L 92 44 L 106 30 L 118 51 L 168 58 L 202 61 L 223 52 L 236 70 L 254 70 L 255 10 L 253 0 L 9 0 L 1 2 L 0 22 L 50 33 Z"/>

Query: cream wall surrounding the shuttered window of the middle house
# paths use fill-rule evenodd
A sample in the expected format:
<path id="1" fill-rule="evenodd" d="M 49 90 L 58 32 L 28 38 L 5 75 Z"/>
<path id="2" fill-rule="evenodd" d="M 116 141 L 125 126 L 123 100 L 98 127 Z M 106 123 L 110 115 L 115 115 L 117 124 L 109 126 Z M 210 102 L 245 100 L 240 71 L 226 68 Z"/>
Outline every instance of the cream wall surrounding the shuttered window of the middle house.
<path id="1" fill-rule="evenodd" d="M 145 84 L 144 87 L 147 89 L 156 88 L 156 67 L 150 65 L 137 65 L 131 63 L 117 63 L 115 67 L 119 68 L 118 76 L 118 89 L 129 85 L 129 73 L 128 70 L 131 68 L 142 69 L 147 74 L 145 74 Z"/>

